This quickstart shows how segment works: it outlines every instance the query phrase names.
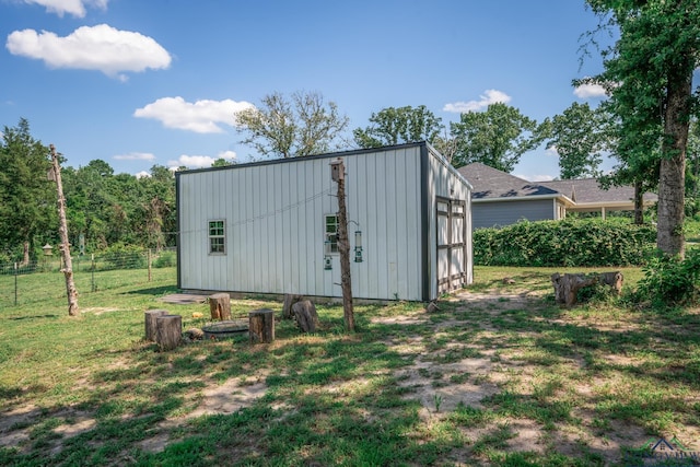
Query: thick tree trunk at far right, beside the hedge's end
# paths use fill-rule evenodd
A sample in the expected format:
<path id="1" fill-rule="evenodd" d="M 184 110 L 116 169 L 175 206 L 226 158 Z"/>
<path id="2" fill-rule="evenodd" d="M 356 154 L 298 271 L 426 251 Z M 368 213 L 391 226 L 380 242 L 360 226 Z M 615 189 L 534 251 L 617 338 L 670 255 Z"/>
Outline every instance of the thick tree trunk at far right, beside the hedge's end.
<path id="1" fill-rule="evenodd" d="M 658 175 L 658 226 L 656 246 L 668 255 L 685 255 L 686 147 L 690 126 L 692 58 L 681 56 L 668 71 L 664 139 Z"/>

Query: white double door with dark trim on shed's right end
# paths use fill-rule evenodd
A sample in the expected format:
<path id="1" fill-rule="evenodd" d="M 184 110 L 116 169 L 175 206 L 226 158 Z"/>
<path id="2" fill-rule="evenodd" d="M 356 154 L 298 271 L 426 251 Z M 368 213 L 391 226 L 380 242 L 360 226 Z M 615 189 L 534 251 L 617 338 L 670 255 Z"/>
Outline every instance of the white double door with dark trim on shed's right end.
<path id="1" fill-rule="evenodd" d="M 467 283 L 466 201 L 438 197 L 438 293 Z"/>

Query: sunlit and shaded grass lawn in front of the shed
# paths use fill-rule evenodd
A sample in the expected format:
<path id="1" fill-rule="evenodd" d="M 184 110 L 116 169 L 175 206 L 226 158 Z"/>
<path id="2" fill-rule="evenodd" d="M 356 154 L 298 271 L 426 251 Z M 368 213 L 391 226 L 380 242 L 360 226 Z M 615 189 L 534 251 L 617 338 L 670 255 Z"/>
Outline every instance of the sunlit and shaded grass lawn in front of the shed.
<path id="1" fill-rule="evenodd" d="M 477 267 L 467 292 L 493 300 L 447 296 L 430 315 L 355 306 L 354 334 L 341 306 L 318 305 L 313 335 L 278 320 L 270 345 L 244 335 L 171 352 L 143 340 L 143 312 L 167 308 L 185 328 L 209 313 L 159 300 L 176 291 L 172 268 L 151 282 L 105 271 L 79 317 L 62 276 L 27 276 L 32 300 L 0 312 L 0 465 L 603 466 L 674 434 L 700 451 L 698 310 L 561 308 L 553 271 Z M 262 306 L 280 315 L 260 297 L 232 312 Z M 197 415 L 212 392 L 246 402 Z"/>

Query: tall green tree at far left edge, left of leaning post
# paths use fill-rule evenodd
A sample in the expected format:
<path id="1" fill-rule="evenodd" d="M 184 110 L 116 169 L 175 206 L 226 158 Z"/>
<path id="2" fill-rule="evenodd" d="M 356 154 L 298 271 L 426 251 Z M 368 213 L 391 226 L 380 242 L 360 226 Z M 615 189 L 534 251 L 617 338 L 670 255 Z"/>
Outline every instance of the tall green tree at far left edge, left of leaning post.
<path id="1" fill-rule="evenodd" d="M 10 256 L 22 250 L 28 264 L 35 242 L 55 237 L 56 191 L 46 179 L 48 148 L 34 139 L 22 118 L 4 127 L 0 144 L 0 247 Z"/>

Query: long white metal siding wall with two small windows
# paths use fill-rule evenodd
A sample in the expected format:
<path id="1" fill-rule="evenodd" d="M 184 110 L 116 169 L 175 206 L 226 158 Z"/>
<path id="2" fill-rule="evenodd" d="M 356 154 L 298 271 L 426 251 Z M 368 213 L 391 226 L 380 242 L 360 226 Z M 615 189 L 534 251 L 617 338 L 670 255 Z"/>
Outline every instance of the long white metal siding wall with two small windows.
<path id="1" fill-rule="evenodd" d="M 421 300 L 420 145 L 343 157 L 355 297 Z M 337 212 L 331 157 L 183 173 L 180 287 L 341 296 L 324 269 L 324 215 Z M 208 254 L 208 221 L 226 221 L 226 255 Z M 359 224 L 359 226 L 358 226 Z M 351 259 L 353 256 L 351 256 Z"/>

